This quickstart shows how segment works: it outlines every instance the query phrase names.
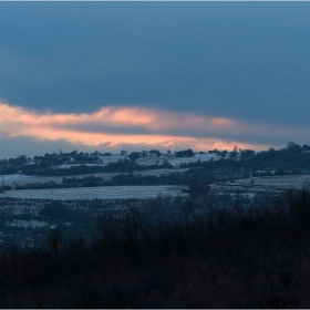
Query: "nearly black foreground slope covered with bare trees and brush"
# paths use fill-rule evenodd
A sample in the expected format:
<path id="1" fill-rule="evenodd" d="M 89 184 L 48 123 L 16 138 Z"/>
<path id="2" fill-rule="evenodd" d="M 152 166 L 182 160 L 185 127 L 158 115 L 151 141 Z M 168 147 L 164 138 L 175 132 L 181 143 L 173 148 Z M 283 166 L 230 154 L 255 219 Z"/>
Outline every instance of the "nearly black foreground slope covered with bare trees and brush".
<path id="1" fill-rule="evenodd" d="M 97 219 L 91 242 L 12 246 L 0 255 L 1 308 L 309 308 L 310 193 L 270 208 L 163 221 L 127 209 Z"/>

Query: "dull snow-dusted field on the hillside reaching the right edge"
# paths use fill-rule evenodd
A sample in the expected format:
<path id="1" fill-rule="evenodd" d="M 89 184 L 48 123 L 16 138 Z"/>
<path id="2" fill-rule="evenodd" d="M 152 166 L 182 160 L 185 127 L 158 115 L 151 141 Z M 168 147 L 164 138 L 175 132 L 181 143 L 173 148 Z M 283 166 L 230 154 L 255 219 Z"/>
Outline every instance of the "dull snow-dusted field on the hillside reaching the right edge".
<path id="1" fill-rule="evenodd" d="M 211 188 L 221 193 L 281 193 L 286 189 L 310 188 L 310 175 L 282 175 L 236 179 L 234 182 L 218 182 Z"/>

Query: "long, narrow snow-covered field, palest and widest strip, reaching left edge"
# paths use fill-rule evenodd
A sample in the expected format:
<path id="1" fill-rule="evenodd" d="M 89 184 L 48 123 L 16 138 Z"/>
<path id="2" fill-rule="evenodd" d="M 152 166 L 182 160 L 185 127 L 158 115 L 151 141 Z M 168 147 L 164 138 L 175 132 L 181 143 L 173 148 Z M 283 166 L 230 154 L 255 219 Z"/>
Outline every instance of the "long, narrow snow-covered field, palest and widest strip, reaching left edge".
<path id="1" fill-rule="evenodd" d="M 8 190 L 0 197 L 12 197 L 22 199 L 127 199 L 127 198 L 155 198 L 162 196 L 187 196 L 183 189 L 187 186 L 163 185 L 163 186 L 106 186 L 106 187 L 78 187 L 56 189 L 27 189 Z"/>

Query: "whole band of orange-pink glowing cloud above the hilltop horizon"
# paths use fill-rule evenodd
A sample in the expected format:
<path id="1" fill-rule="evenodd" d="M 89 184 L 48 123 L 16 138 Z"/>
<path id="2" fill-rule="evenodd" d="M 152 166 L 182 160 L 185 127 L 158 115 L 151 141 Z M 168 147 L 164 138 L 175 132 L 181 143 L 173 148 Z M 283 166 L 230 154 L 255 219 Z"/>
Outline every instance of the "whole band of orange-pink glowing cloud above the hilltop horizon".
<path id="1" fill-rule="evenodd" d="M 204 151 L 231 149 L 236 144 L 241 148 L 262 149 L 270 146 L 270 135 L 289 140 L 309 131 L 136 106 L 53 114 L 0 103 L 0 138 L 65 141 L 73 147 Z"/>

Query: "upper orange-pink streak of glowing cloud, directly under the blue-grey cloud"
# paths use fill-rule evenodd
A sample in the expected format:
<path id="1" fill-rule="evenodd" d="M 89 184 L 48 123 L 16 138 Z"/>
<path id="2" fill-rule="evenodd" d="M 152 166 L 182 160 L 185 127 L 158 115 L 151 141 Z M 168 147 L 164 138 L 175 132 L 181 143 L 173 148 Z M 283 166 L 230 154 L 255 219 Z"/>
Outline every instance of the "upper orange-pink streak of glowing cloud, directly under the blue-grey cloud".
<path id="1" fill-rule="evenodd" d="M 152 108 L 141 107 L 103 107 L 95 113 L 81 114 L 39 114 L 34 111 L 27 111 L 21 107 L 0 104 L 0 113 L 4 115 L 2 122 L 19 123 L 19 126 L 27 127 L 56 127 L 82 124 L 99 124 L 111 127 L 132 126 L 144 127 L 151 131 L 184 128 L 203 130 L 216 127 L 226 128 L 234 125 L 228 118 L 202 117 L 197 115 L 172 113 Z"/>

